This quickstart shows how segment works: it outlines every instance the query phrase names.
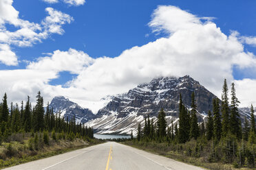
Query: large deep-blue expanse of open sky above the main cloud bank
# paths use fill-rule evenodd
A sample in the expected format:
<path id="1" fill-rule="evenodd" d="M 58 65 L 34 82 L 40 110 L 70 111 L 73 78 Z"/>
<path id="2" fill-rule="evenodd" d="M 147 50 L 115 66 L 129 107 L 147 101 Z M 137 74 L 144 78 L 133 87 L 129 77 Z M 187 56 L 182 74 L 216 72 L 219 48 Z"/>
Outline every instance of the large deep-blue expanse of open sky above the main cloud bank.
<path id="1" fill-rule="evenodd" d="M 214 22 L 225 34 L 237 30 L 242 35 L 256 36 L 256 1 L 88 0 L 76 7 L 23 0 L 13 3 L 21 19 L 39 23 L 45 17 L 45 8 L 50 6 L 70 14 L 74 21 L 64 26 L 63 35 L 52 35 L 33 47 L 14 49 L 23 60 L 34 60 L 42 53 L 56 49 L 66 51 L 70 47 L 86 51 L 92 58 L 116 57 L 125 49 L 159 38 L 147 25 L 158 5 L 175 5 L 198 16 L 215 17 Z M 255 48 L 246 49 L 256 52 Z"/>

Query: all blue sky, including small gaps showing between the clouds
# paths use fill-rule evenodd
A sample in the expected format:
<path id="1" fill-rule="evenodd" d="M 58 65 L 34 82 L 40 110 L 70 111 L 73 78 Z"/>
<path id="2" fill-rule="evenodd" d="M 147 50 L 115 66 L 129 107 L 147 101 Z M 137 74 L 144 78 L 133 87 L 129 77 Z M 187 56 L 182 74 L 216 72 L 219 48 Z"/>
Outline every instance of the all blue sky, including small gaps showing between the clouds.
<path id="1" fill-rule="evenodd" d="M 12 5 L 12 7 L 19 12 L 19 19 L 29 21 L 30 23 L 40 24 L 47 16 L 46 8 L 52 8 L 58 12 L 62 12 L 62 14 L 67 14 L 67 18 L 70 17 L 69 19 L 71 19 L 72 17 L 72 19 L 69 22 L 66 18 L 64 19 L 64 23 L 58 23 L 61 25 L 61 29 L 63 29 L 61 34 L 49 33 L 50 31 L 48 31 L 48 36 L 41 38 L 41 42 L 32 42 L 32 45 L 26 47 L 19 47 L 10 42 L 2 42 L 8 45 L 11 51 L 16 54 L 19 64 L 5 64 L 1 62 L 1 70 L 31 69 L 32 67 L 28 66 L 31 62 L 36 63 L 42 58 L 52 57 L 52 53 L 56 50 L 69 51 L 70 48 L 76 51 L 83 51 L 83 53 L 88 55 L 92 60 L 103 58 L 104 56 L 107 56 L 107 58 L 118 58 L 123 51 L 131 49 L 132 47 L 141 47 L 161 38 L 169 38 L 170 35 L 174 34 L 173 31 L 170 31 L 170 34 L 168 29 L 164 28 L 161 32 L 153 32 L 155 28 L 149 26 L 149 22 L 154 19 L 152 14 L 154 10 L 158 9 L 159 5 L 175 6 L 184 12 L 193 14 L 195 17 L 198 17 L 198 19 L 200 19 L 200 17 L 213 17 L 214 19 L 211 19 L 211 22 L 215 23 L 217 27 L 220 27 L 222 34 L 230 36 L 232 31 L 239 32 L 239 35 L 236 37 L 244 47 L 242 51 L 247 54 L 248 52 L 252 53 L 252 58 L 255 58 L 255 44 L 249 43 L 250 45 L 248 45 L 248 43 L 242 42 L 245 41 L 244 39 L 246 37 L 254 38 L 256 36 L 256 1 L 253 0 L 87 0 L 85 3 L 82 2 L 79 5 L 67 3 L 68 0 L 58 0 L 58 3 L 47 3 L 45 2 L 46 0 L 14 0 L 13 3 L 11 3 L 11 0 L 5 1 L 9 1 L 9 5 Z M 19 26 L 15 26 L 12 22 L 8 23 L 6 21 L 3 25 L 10 32 L 15 32 L 20 29 Z M 161 25 L 158 25 L 158 27 L 161 27 Z M 254 81 L 256 79 L 255 69 L 252 69 L 252 66 L 241 66 L 239 64 L 231 64 L 231 66 L 231 81 L 244 80 L 246 78 Z M 74 65 L 74 67 L 76 67 L 76 65 Z M 85 68 L 87 68 L 87 64 Z M 72 80 L 76 79 L 76 75 L 81 73 L 81 70 L 70 70 L 71 69 L 58 69 L 51 78 L 42 80 L 43 84 L 50 86 L 62 85 L 63 87 L 70 86 Z M 182 73 L 186 72 L 180 71 L 177 75 Z M 199 75 L 198 77 L 200 80 L 204 80 L 204 77 L 200 77 Z M 151 77 L 145 79 L 140 77 L 140 80 L 146 81 L 149 80 L 149 78 Z M 221 78 L 223 79 L 224 77 Z M 218 80 L 212 79 L 213 82 L 218 82 Z M 135 81 L 132 86 L 141 81 Z M 122 82 L 120 82 L 120 84 L 122 84 Z M 210 83 L 202 82 L 202 84 L 207 86 L 207 84 Z M 77 86 L 76 84 L 76 87 Z M 210 86 L 209 88 L 215 89 Z M 32 90 L 30 91 L 32 92 Z M 215 91 L 220 91 L 220 89 L 215 89 Z M 119 92 L 122 92 L 122 90 L 118 91 L 118 93 Z M 49 96 L 52 97 L 52 95 Z M 81 99 L 81 97 L 78 98 Z"/>

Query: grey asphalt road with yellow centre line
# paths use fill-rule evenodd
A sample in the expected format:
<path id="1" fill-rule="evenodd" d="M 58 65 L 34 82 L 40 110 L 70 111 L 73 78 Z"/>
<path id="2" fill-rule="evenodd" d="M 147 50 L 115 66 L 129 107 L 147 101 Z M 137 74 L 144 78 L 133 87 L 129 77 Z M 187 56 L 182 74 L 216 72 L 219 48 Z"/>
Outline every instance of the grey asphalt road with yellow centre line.
<path id="1" fill-rule="evenodd" d="M 8 169 L 41 170 L 195 170 L 202 169 L 163 156 L 109 142 L 17 165 Z"/>

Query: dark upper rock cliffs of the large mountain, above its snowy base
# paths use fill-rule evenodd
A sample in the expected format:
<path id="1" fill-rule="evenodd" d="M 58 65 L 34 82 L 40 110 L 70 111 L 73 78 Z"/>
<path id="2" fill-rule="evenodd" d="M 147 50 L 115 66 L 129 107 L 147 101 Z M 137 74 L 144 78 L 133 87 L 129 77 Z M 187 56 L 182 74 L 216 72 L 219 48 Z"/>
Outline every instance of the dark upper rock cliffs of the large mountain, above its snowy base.
<path id="1" fill-rule="evenodd" d="M 216 96 L 186 75 L 180 78 L 160 77 L 149 84 L 140 84 L 128 93 L 114 97 L 107 106 L 98 111 L 97 117 L 111 112 L 118 112 L 118 118 L 126 117 L 132 112 L 138 116 L 149 114 L 150 117 L 156 117 L 161 108 L 164 108 L 167 116 L 178 116 L 180 94 L 189 108 L 193 91 L 198 112 L 212 110 L 212 100 Z"/>

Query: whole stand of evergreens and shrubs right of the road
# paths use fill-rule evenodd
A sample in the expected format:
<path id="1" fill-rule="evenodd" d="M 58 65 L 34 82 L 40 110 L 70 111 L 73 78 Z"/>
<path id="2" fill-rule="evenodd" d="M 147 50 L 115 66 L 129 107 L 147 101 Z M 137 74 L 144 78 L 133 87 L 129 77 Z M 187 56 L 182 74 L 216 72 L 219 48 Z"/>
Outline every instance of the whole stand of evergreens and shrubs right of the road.
<path id="1" fill-rule="evenodd" d="M 222 99 L 213 99 L 213 110 L 209 110 L 206 122 L 199 123 L 197 117 L 197 105 L 195 93 L 191 95 L 191 106 L 186 108 L 179 101 L 178 123 L 171 122 L 167 126 L 164 110 L 161 109 L 156 123 L 145 117 L 145 126 L 138 124 L 138 143 L 168 143 L 168 146 L 180 149 L 185 153 L 196 152 L 200 156 L 205 150 L 211 148 L 209 161 L 234 163 L 237 166 L 255 166 L 256 130 L 253 105 L 250 108 L 250 120 L 244 117 L 244 125 L 240 118 L 239 100 L 235 94 L 235 84 L 231 84 L 231 101 L 228 99 L 228 86 L 226 80 L 222 88 Z M 195 141 L 195 150 L 190 148 L 189 143 Z M 188 149 L 189 148 L 189 149 Z M 200 149 L 198 149 L 200 148 Z M 192 151 L 193 150 L 193 151 Z M 200 153 L 199 153 L 200 152 Z M 183 152 L 182 152 L 183 153 Z M 199 153 L 199 154 L 198 154 Z"/>

